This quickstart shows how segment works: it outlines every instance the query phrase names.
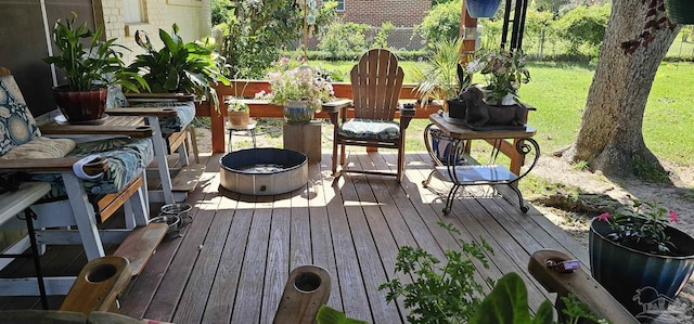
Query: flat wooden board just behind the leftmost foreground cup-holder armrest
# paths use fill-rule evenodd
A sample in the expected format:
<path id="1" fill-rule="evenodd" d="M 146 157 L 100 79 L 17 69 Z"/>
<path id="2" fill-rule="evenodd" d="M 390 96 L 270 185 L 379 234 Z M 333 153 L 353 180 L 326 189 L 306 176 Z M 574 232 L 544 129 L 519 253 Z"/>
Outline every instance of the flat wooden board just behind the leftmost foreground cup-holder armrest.
<path id="1" fill-rule="evenodd" d="M 165 223 L 149 223 L 146 226 L 137 228 L 118 246 L 114 256 L 128 259 L 132 275 L 138 275 L 154 255 L 167 231 L 168 226 Z"/>

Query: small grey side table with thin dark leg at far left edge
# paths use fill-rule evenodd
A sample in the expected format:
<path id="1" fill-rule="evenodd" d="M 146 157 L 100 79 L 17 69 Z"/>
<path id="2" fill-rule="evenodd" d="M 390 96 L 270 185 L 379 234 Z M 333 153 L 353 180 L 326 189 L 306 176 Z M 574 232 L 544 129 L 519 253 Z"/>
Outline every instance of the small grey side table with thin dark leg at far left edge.
<path id="1" fill-rule="evenodd" d="M 41 272 L 41 262 L 39 260 L 39 248 L 36 243 L 36 235 L 34 233 L 33 218 L 36 217 L 29 206 L 34 205 L 48 192 L 51 191 L 51 185 L 47 182 L 27 182 L 20 186 L 20 190 L 15 192 L 7 192 L 0 195 L 0 224 L 11 220 L 13 217 L 24 213 L 24 221 L 26 222 L 27 231 L 29 232 L 29 243 L 31 245 L 31 254 L 2 254 L 0 258 L 33 258 L 34 268 L 36 271 L 36 280 L 38 282 L 38 290 L 41 296 L 41 303 L 43 309 L 48 309 L 48 299 L 46 297 L 46 286 L 43 283 L 43 274 Z M 1 285 L 0 285 L 1 286 Z"/>

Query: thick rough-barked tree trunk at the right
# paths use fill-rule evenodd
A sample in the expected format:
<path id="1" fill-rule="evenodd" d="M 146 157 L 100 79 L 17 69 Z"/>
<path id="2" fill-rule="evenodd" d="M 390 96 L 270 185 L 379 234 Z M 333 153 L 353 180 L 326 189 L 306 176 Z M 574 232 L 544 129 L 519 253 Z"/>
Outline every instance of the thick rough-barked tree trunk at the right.
<path id="1" fill-rule="evenodd" d="M 633 174 L 634 164 L 643 163 L 664 171 L 643 141 L 642 124 L 655 73 L 679 28 L 657 30 L 652 42 L 632 54 L 620 48 L 642 33 L 647 2 L 613 1 L 581 128 L 563 154 L 570 161 L 588 161 L 606 176 Z"/>

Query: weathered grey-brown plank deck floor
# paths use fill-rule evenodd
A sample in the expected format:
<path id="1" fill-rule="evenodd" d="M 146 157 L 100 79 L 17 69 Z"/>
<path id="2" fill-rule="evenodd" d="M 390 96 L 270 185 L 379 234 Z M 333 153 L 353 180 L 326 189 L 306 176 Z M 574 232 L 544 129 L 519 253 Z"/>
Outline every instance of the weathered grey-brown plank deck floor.
<path id="1" fill-rule="evenodd" d="M 439 221 L 453 223 L 465 241 L 484 237 L 494 254 L 478 277 L 519 273 L 532 309 L 554 296 L 528 274 L 530 254 L 553 248 L 589 264 L 586 248 L 536 209 L 522 213 L 515 196 L 463 197 L 442 216 L 448 185 L 421 184 L 432 170 L 426 153 L 407 155 L 402 183 L 374 176 L 334 182 L 324 154 L 321 164 L 310 165 L 306 187 L 278 196 L 220 190 L 220 156 L 201 156 L 207 171 L 188 199 L 193 222 L 181 237 L 163 243 L 132 281 L 123 314 L 175 323 L 271 323 L 290 271 L 317 264 L 332 276 L 331 307 L 370 323 L 404 322 L 402 302 L 387 303 L 377 287 L 395 276 L 398 247 L 419 245 L 442 259 L 445 249 L 458 246 Z M 396 155 L 352 153 L 351 161 L 393 168 Z M 37 307 L 25 299 L 0 298 L 0 308 Z"/>

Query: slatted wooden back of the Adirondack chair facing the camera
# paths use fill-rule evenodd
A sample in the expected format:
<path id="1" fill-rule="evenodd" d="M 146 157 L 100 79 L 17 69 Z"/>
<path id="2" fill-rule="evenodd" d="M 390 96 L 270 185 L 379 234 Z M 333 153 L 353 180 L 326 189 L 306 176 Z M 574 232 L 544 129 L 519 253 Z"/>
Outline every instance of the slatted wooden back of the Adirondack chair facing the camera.
<path id="1" fill-rule="evenodd" d="M 364 53 L 351 73 L 355 117 L 393 120 L 404 73 L 398 59 L 385 49 Z"/>

